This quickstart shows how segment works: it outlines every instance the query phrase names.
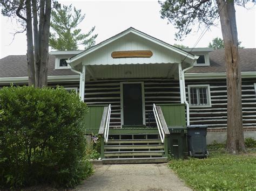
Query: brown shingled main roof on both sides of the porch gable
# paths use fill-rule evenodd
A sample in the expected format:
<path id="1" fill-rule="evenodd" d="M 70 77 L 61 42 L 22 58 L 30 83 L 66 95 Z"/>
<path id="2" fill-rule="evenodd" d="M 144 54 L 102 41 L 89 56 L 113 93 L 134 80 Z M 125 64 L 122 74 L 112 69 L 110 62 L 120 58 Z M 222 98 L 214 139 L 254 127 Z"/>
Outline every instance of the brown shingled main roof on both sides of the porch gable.
<path id="1" fill-rule="evenodd" d="M 209 53 L 210 66 L 195 66 L 186 74 L 225 73 L 224 49 Z M 242 72 L 256 72 L 256 48 L 239 49 Z M 2 77 L 26 77 L 26 55 L 10 55 L 0 59 L 0 83 Z M 55 56 L 49 55 L 48 76 L 75 76 L 70 69 L 55 69 Z M 206 76 L 207 77 L 207 76 Z"/>

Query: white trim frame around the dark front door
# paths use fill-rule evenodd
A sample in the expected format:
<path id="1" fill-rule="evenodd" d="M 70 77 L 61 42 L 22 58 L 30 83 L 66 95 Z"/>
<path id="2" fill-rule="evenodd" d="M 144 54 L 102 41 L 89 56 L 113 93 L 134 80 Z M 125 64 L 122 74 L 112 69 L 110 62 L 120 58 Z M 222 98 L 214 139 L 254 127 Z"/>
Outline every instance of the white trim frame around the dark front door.
<path id="1" fill-rule="evenodd" d="M 122 127 L 122 125 L 124 125 L 123 84 L 129 84 L 129 83 L 140 83 L 140 84 L 142 84 L 142 117 L 143 117 L 143 125 L 146 125 L 144 82 L 120 82 L 121 127 Z"/>

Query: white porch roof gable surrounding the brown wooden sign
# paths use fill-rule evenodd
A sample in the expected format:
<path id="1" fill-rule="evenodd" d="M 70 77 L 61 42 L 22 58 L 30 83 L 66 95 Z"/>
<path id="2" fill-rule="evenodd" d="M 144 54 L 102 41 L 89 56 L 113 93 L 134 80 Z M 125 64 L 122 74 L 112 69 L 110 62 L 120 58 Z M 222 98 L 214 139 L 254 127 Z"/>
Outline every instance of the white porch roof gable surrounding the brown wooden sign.
<path id="1" fill-rule="evenodd" d="M 115 51 L 151 51 L 149 58 L 112 58 Z M 81 70 L 82 65 L 124 65 L 148 63 L 181 63 L 193 65 L 198 56 L 174 47 L 132 27 L 67 60 Z"/>

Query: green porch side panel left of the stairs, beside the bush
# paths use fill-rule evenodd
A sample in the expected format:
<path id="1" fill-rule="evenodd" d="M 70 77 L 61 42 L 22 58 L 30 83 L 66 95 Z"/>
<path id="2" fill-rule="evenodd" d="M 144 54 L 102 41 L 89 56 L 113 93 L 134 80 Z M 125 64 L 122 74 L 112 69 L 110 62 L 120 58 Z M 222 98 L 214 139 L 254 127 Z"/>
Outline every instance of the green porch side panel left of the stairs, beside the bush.
<path id="1" fill-rule="evenodd" d="M 84 118 L 87 133 L 98 133 L 104 107 L 104 105 L 93 105 L 88 107 L 89 111 Z"/>

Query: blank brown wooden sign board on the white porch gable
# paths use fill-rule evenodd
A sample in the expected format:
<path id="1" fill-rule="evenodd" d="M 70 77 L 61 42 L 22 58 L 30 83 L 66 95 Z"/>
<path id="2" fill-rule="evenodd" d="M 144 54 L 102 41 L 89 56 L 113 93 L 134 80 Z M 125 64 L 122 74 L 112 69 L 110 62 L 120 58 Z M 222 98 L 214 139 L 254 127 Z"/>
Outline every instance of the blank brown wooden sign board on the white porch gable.
<path id="1" fill-rule="evenodd" d="M 151 51 L 115 51 L 112 52 L 112 58 L 150 58 L 153 55 Z"/>

